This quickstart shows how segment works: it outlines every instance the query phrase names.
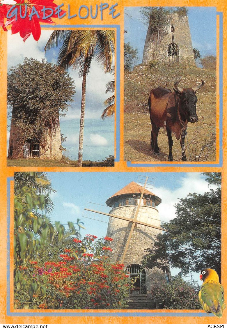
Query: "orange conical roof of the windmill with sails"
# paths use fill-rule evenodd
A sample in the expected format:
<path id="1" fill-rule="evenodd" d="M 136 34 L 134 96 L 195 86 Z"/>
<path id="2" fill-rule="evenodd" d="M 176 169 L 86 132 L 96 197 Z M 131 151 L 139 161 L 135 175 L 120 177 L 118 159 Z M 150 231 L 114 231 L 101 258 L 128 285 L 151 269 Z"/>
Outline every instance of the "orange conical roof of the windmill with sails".
<path id="1" fill-rule="evenodd" d="M 133 195 L 133 194 L 141 195 L 142 190 L 143 190 L 143 186 L 140 186 L 139 184 L 137 184 L 135 182 L 131 182 L 128 185 L 126 185 L 125 187 L 123 187 L 123 189 L 121 189 L 118 192 L 116 192 L 115 194 L 113 194 L 109 199 L 107 199 L 106 204 L 108 206 L 110 206 L 111 203 L 113 202 L 113 199 L 118 199 L 118 197 L 122 196 L 122 195 L 126 195 L 126 194 L 127 195 Z M 149 195 L 149 196 L 153 195 L 154 199 L 156 201 L 155 202 L 156 206 L 158 206 L 162 202 L 162 199 L 160 199 L 157 195 L 155 195 L 154 193 L 152 193 L 151 191 L 149 191 L 147 189 L 144 189 L 143 194 Z"/>

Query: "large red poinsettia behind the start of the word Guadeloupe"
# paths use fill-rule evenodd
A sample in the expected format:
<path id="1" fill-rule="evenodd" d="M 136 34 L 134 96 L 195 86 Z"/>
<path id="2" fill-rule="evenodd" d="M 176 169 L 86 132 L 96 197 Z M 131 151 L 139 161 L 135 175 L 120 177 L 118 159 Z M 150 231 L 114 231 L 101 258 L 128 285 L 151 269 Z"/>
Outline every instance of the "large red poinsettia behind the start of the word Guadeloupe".
<path id="1" fill-rule="evenodd" d="M 21 0 L 15 0 L 18 4 L 21 3 Z M 16 18 L 13 16 L 12 18 L 8 19 L 6 22 L 6 26 L 12 24 L 12 34 L 20 33 L 21 38 L 25 41 L 31 34 L 33 35 L 33 38 L 38 41 L 40 34 L 41 34 L 41 28 L 39 25 L 39 22 L 42 23 L 53 23 L 51 17 L 43 19 L 44 13 L 41 11 L 43 10 L 43 7 L 45 8 L 51 8 L 53 10 L 53 14 L 51 17 L 58 17 L 57 14 L 54 13 L 55 9 L 58 7 L 55 3 L 53 3 L 53 0 L 26 0 L 26 5 L 19 6 L 16 5 L 14 8 L 17 9 Z M 20 9 L 21 7 L 21 9 Z M 36 10 L 36 11 L 35 11 Z M 20 15 L 21 11 L 21 15 Z M 35 14 L 33 14 L 35 13 Z M 51 10 L 45 11 L 45 16 L 48 16 L 51 14 Z M 64 11 L 62 11 L 64 13 Z M 10 15 L 11 13 L 9 13 Z M 33 14 L 30 20 L 29 15 Z M 20 16 L 24 17 L 21 18 Z M 39 17 L 38 17 L 39 16 Z"/>

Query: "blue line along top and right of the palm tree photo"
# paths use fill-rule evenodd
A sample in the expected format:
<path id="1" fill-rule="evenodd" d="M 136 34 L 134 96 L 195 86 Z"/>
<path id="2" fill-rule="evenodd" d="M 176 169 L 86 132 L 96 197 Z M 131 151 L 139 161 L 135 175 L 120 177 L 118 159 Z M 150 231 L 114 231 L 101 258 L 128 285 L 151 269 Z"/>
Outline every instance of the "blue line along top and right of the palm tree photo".
<path id="1" fill-rule="evenodd" d="M 41 28 L 53 28 L 53 25 L 40 25 Z M 116 156 L 115 162 L 120 161 L 120 25 L 54 25 L 54 28 L 96 28 L 103 30 L 105 28 L 116 29 Z"/>

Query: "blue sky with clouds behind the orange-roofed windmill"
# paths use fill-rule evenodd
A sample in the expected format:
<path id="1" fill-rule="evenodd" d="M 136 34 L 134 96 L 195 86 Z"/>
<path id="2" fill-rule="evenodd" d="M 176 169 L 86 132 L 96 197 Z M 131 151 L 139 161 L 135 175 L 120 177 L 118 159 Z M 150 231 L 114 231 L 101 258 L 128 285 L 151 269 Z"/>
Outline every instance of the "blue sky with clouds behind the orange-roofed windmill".
<path id="1" fill-rule="evenodd" d="M 79 218 L 85 226 L 80 230 L 81 235 L 92 234 L 98 238 L 106 236 L 109 216 L 84 209 L 109 213 L 111 208 L 106 206 L 106 200 L 132 181 L 140 183 L 146 176 L 154 180 L 153 193 L 162 199 L 157 210 L 160 219 L 166 222 L 175 217 L 174 205 L 179 198 L 193 192 L 203 194 L 210 189 L 200 173 L 48 172 L 48 175 L 56 190 L 51 193 L 55 205 L 52 222 L 60 221 L 67 228 L 68 221 L 76 223 Z M 171 273 L 176 275 L 179 271 L 172 269 Z M 198 273 L 192 274 L 199 282 Z"/>

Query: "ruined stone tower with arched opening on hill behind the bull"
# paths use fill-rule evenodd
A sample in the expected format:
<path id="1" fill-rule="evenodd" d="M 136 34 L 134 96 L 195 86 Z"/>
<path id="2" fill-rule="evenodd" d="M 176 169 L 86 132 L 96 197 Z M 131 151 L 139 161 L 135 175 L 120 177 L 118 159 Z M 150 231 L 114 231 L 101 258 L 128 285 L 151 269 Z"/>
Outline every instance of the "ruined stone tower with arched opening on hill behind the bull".
<path id="1" fill-rule="evenodd" d="M 186 14 L 170 13 L 166 31 L 161 31 L 154 38 L 150 25 L 143 49 L 142 63 L 148 65 L 151 61 L 177 62 L 195 65 L 189 21 Z"/>

